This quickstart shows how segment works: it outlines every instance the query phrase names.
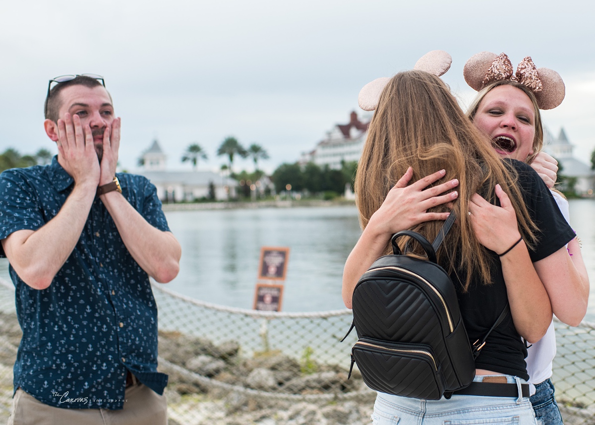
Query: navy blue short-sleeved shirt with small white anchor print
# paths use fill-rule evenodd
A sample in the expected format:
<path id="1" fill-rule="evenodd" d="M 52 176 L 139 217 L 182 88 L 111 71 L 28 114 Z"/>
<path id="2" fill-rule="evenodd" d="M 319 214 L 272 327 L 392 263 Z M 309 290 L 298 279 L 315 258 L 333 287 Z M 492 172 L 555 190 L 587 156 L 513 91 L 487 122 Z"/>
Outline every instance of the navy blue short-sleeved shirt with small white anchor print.
<path id="1" fill-rule="evenodd" d="M 155 186 L 142 176 L 117 176 L 130 204 L 149 224 L 168 231 Z M 57 157 L 51 165 L 4 171 L 0 239 L 42 227 L 58 214 L 73 187 Z M 99 198 L 48 288 L 33 289 L 12 267 L 10 274 L 23 329 L 15 390 L 20 387 L 55 407 L 121 409 L 130 370 L 163 393 L 167 375 L 157 372 L 157 308 L 149 277 L 124 246 Z"/>

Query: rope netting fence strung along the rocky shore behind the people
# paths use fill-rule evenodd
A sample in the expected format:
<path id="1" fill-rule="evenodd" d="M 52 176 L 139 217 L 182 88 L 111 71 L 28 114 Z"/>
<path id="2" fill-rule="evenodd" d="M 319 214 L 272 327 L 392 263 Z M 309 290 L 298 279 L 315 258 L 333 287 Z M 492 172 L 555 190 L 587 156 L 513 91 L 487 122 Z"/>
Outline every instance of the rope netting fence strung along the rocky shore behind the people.
<path id="1" fill-rule="evenodd" d="M 0 283 L 2 421 L 11 407 L 20 328 L 14 289 Z M 375 393 L 356 368 L 347 380 L 355 331 L 340 342 L 352 321 L 349 310 L 244 310 L 197 301 L 163 285 L 154 285 L 154 295 L 159 368 L 170 375 L 170 424 L 369 423 Z M 595 324 L 556 321 L 556 336 L 552 379 L 565 423 L 595 424 Z"/>

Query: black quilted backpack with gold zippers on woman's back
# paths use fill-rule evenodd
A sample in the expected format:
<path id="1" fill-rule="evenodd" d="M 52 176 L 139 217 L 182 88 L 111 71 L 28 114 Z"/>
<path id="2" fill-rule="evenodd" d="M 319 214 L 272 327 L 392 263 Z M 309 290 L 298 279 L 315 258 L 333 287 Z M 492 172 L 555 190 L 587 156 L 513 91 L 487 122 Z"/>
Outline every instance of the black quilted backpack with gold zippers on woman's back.
<path id="1" fill-rule="evenodd" d="M 436 251 L 454 221 L 451 213 L 432 245 L 410 230 L 395 233 L 393 255 L 378 258 L 355 286 L 349 332 L 355 326 L 359 340 L 349 376 L 356 363 L 369 388 L 418 399 L 450 398 L 471 384 L 475 358 L 508 314 L 507 304 L 484 339 L 471 345 L 455 287 L 436 264 Z M 401 254 L 396 242 L 401 236 L 417 240 L 428 259 Z"/>

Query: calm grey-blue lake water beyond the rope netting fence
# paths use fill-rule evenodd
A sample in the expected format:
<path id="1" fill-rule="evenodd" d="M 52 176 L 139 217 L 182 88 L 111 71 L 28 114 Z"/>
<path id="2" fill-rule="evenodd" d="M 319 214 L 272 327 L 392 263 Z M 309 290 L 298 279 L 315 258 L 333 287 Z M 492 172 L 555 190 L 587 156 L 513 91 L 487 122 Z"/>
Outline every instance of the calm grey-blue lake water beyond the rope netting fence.
<path id="1" fill-rule="evenodd" d="M 571 224 L 583 240 L 591 282 L 585 320 L 595 321 L 595 201 L 570 201 Z M 344 308 L 343 264 L 360 235 L 355 207 L 169 211 L 183 254 L 168 289 L 215 304 L 252 308 L 262 246 L 290 248 L 283 311 Z M 8 265 L 0 259 L 0 277 Z"/>

